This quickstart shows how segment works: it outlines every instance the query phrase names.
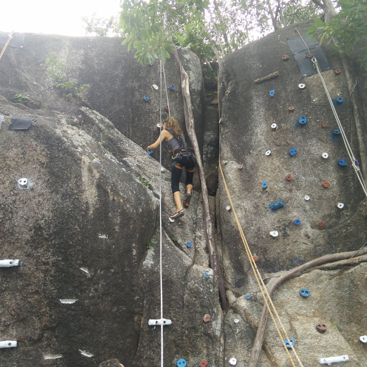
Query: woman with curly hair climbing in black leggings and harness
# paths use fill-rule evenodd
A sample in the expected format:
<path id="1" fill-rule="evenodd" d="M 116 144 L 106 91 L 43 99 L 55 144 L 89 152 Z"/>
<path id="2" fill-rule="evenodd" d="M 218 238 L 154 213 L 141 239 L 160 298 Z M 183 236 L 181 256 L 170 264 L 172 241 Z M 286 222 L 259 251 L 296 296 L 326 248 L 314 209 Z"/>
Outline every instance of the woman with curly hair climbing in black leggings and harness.
<path id="1" fill-rule="evenodd" d="M 183 216 L 183 208 L 181 203 L 181 192 L 179 190 L 179 182 L 182 175 L 182 167 L 186 170 L 186 197 L 183 201 L 185 207 L 190 205 L 191 196 L 193 193 L 192 178 L 195 172 L 196 158 L 194 150 L 188 148 L 185 137 L 177 120 L 173 117 L 167 117 L 163 121 L 161 135 L 157 141 L 149 145 L 146 150 L 156 149 L 160 145 L 160 141 L 166 140 L 168 147 L 171 149 L 172 171 L 171 171 L 171 188 L 177 211 L 169 218 L 171 222 Z"/>

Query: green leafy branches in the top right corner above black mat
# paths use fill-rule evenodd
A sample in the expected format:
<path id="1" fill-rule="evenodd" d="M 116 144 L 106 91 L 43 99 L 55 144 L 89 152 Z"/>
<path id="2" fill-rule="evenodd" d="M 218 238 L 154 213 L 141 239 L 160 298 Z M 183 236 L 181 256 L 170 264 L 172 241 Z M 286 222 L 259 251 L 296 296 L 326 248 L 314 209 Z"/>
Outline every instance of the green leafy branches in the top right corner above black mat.
<path id="1" fill-rule="evenodd" d="M 340 12 L 324 23 L 316 18 L 308 33 L 315 39 L 320 34 L 320 44 L 334 42 L 335 51 L 350 56 L 358 47 L 358 59 L 361 68 L 367 71 L 367 1 L 338 0 Z"/>

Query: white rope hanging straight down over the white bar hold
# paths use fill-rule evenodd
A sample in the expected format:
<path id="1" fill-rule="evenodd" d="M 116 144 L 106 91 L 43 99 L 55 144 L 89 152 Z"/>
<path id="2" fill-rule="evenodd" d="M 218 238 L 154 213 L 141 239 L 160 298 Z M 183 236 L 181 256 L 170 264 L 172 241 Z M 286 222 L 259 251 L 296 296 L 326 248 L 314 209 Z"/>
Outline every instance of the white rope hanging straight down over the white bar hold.
<path id="1" fill-rule="evenodd" d="M 162 61 L 160 62 L 162 68 Z M 164 68 L 164 66 L 163 66 Z M 163 69 L 164 70 L 164 69 Z M 168 101 L 168 96 L 167 96 Z M 169 108 L 168 108 L 169 110 Z M 159 235 L 160 235 L 160 308 L 161 308 L 161 367 L 163 367 L 163 286 L 162 286 L 162 73 L 160 73 L 160 103 L 159 103 Z"/>

